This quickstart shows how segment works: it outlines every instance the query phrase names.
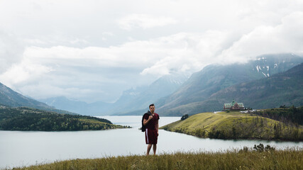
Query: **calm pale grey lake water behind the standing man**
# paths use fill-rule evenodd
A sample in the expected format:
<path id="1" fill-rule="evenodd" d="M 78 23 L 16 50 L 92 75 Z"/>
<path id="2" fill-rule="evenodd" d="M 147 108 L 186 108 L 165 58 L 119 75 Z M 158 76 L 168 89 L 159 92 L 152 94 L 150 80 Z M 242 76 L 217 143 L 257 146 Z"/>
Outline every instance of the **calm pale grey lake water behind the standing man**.
<path id="1" fill-rule="evenodd" d="M 131 129 L 78 132 L 21 132 L 0 130 L 0 169 L 44 164 L 66 159 L 85 159 L 120 155 L 143 155 L 146 151 L 141 116 L 99 116 Z M 160 126 L 180 117 L 160 117 Z M 263 140 L 211 140 L 176 132 L 159 131 L 158 154 L 173 152 L 216 152 L 253 147 L 263 143 L 285 149 L 302 147 L 303 142 Z"/>

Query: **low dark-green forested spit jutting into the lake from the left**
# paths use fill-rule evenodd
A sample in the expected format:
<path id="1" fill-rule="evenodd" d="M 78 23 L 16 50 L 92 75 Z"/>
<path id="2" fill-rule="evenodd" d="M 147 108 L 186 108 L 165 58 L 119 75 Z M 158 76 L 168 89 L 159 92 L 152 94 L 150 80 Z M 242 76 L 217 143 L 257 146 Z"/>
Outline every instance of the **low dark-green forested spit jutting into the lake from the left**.
<path id="1" fill-rule="evenodd" d="M 60 114 L 35 108 L 0 106 L 0 130 L 106 130 L 126 128 L 109 120 L 84 115 Z"/>

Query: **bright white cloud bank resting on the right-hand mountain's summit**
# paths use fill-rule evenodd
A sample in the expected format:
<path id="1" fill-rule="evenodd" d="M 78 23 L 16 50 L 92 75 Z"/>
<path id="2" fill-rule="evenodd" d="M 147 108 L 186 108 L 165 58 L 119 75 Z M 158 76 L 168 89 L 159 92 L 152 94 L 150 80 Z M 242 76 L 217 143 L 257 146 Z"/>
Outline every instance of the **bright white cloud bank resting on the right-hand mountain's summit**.
<path id="1" fill-rule="evenodd" d="M 281 19 L 277 26 L 258 26 L 242 35 L 219 56 L 226 64 L 246 62 L 258 55 L 303 52 L 303 12 L 296 11 Z"/>

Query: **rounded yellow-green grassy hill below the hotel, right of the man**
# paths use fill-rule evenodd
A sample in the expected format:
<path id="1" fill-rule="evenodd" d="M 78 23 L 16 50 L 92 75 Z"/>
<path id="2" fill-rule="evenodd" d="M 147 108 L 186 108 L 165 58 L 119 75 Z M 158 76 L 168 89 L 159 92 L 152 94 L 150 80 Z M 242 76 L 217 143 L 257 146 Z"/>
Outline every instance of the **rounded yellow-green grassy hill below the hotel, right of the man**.
<path id="1" fill-rule="evenodd" d="M 199 113 L 161 128 L 219 139 L 303 140 L 302 125 L 282 123 L 252 113 Z"/>

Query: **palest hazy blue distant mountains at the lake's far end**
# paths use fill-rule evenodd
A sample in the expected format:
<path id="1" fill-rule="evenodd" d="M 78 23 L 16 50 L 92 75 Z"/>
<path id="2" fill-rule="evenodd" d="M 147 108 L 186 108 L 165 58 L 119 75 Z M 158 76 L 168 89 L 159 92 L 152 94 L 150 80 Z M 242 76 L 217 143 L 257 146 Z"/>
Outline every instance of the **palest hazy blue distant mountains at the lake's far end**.
<path id="1" fill-rule="evenodd" d="M 45 98 L 40 101 L 50 106 L 82 115 L 121 115 L 138 109 L 148 108 L 164 96 L 172 94 L 189 78 L 187 74 L 171 74 L 160 77 L 150 86 L 140 86 L 123 91 L 115 103 L 72 101 L 64 96 Z"/>

